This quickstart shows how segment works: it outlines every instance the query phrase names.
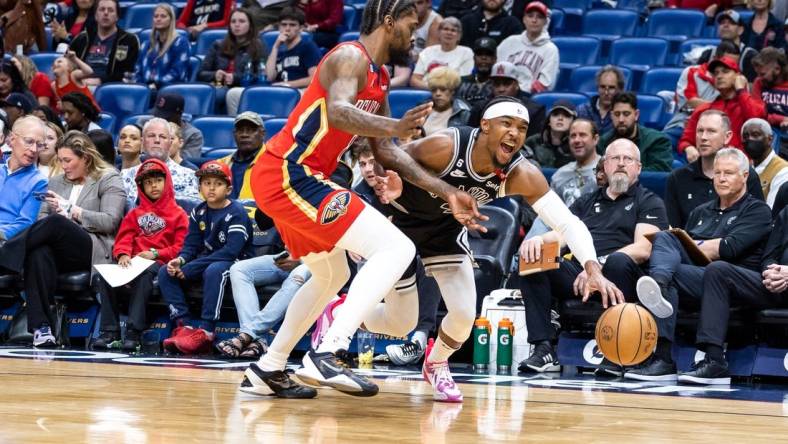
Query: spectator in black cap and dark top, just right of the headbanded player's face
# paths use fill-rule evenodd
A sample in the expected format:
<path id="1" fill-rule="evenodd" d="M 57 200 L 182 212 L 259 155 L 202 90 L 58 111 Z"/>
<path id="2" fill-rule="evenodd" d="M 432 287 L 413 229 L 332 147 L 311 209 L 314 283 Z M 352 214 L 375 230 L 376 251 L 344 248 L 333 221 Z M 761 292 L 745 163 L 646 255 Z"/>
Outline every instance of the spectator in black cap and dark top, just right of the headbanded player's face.
<path id="1" fill-rule="evenodd" d="M 540 166 L 559 168 L 574 159 L 569 148 L 569 127 L 575 117 L 577 112 L 574 103 L 557 100 L 547 114 L 544 130 L 526 139 L 525 144 L 534 152 Z"/>

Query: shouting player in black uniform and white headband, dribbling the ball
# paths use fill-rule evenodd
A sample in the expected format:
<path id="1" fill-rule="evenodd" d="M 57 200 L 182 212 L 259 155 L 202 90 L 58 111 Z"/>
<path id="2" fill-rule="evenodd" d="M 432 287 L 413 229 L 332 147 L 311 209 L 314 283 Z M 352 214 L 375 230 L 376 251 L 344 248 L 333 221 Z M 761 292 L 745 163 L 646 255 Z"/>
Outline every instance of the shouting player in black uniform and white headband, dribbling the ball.
<path id="1" fill-rule="evenodd" d="M 598 291 L 603 305 L 624 302 L 616 286 L 602 276 L 594 244 L 586 226 L 550 190 L 536 167 L 519 149 L 528 131 L 528 110 L 517 99 L 500 97 L 485 108 L 478 129 L 449 128 L 402 148 L 439 178 L 474 196 L 480 205 L 496 197 L 522 195 L 539 216 L 560 232 L 583 264 L 579 280 L 583 300 Z M 476 287 L 466 229 L 438 196 L 409 183 L 391 171 L 379 178 L 378 196 L 387 203 L 392 220 L 413 240 L 425 270 L 435 277 L 448 313 L 438 338 L 424 359 L 424 378 L 434 399 L 461 402 L 462 393 L 449 372 L 447 360 L 468 338 L 476 315 Z M 525 295 L 527 297 L 527 295 Z M 415 260 L 384 303 L 364 321 L 373 332 L 407 335 L 418 318 Z"/>

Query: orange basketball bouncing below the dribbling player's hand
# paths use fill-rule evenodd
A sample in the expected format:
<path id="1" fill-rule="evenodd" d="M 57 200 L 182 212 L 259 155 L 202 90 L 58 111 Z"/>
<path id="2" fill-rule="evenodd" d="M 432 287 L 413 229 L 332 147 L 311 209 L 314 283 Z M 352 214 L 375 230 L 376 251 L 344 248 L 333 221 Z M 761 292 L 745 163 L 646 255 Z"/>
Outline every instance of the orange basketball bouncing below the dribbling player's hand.
<path id="1" fill-rule="evenodd" d="M 640 364 L 657 346 L 657 324 L 645 308 L 618 304 L 608 308 L 596 322 L 597 346 L 618 365 Z"/>

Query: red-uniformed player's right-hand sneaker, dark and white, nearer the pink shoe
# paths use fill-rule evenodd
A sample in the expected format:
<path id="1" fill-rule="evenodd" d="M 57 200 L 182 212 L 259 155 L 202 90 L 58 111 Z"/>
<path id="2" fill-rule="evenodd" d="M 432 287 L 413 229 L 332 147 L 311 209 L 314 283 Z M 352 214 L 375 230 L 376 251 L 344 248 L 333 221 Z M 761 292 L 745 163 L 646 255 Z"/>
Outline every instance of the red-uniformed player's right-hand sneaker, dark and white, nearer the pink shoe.
<path id="1" fill-rule="evenodd" d="M 378 386 L 367 378 L 351 372 L 337 355 L 344 355 L 344 350 L 317 353 L 314 350 L 304 355 L 304 366 L 296 370 L 296 376 L 304 384 L 332 387 L 342 393 L 353 396 L 375 396 Z"/>

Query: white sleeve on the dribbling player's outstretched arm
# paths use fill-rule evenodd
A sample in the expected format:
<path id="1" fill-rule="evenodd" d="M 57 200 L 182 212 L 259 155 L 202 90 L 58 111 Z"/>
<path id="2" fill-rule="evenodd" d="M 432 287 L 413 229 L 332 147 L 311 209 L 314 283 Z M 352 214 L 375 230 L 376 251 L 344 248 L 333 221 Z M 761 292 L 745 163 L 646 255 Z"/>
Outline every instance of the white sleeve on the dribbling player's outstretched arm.
<path id="1" fill-rule="evenodd" d="M 566 204 L 550 190 L 532 205 L 536 214 L 553 230 L 561 233 L 572 254 L 581 265 L 598 262 L 594 241 L 585 224 L 569 211 Z"/>

